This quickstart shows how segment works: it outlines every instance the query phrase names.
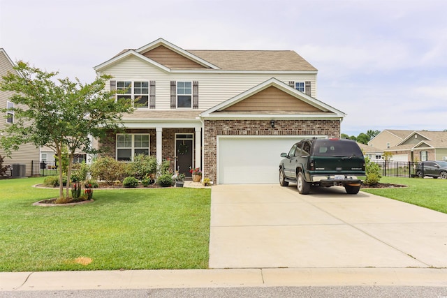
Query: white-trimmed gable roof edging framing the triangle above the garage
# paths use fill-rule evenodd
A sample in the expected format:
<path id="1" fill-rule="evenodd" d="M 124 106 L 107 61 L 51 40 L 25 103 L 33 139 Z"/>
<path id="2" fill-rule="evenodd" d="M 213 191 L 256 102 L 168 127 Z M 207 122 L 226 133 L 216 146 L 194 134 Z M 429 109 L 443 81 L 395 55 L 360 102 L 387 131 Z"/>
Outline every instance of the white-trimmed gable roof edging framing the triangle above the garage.
<path id="1" fill-rule="evenodd" d="M 228 111 L 228 107 L 231 107 L 233 105 L 236 105 L 237 103 L 242 102 L 242 100 L 246 100 L 247 98 L 250 98 L 251 96 L 254 96 L 255 94 L 260 93 L 261 91 L 268 89 L 270 87 L 275 87 L 279 89 L 282 92 L 285 92 L 286 94 L 289 94 L 296 98 L 296 100 L 301 100 L 307 105 L 310 105 L 312 107 L 316 107 L 316 110 L 314 112 L 309 112 L 309 110 L 303 111 L 303 112 L 297 112 L 297 111 L 281 111 L 281 110 L 270 110 L 270 111 L 252 111 L 252 112 L 233 112 Z M 233 117 L 246 117 L 246 118 L 265 118 L 265 117 L 272 117 L 274 115 L 275 118 L 280 119 L 296 119 L 297 117 L 300 118 L 339 118 L 342 119 L 346 114 L 344 112 L 335 109 L 335 107 L 331 107 L 330 105 L 327 105 L 320 100 L 313 98 L 312 96 L 309 96 L 307 94 L 304 94 L 293 87 L 288 86 L 288 84 L 285 84 L 284 82 L 281 82 L 280 80 L 277 80 L 276 78 L 272 77 L 270 80 L 267 80 L 261 84 L 258 84 L 257 86 L 248 89 L 247 91 L 242 92 L 241 94 L 238 94 L 237 96 L 234 96 L 233 98 L 230 98 L 226 101 L 223 101 L 222 103 L 219 103 L 218 105 L 215 105 L 214 107 L 202 112 L 200 114 L 201 117 L 211 117 L 211 118 L 233 118 Z"/>

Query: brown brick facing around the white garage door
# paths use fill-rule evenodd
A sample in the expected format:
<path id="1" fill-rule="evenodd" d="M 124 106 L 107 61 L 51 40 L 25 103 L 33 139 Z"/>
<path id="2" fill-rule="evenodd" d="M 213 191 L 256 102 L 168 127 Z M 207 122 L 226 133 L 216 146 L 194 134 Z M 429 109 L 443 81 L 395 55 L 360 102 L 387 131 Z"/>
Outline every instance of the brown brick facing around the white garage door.
<path id="1" fill-rule="evenodd" d="M 203 170 L 205 177 L 217 182 L 218 135 L 327 135 L 340 137 L 340 121 L 337 120 L 205 120 L 205 149 Z"/>

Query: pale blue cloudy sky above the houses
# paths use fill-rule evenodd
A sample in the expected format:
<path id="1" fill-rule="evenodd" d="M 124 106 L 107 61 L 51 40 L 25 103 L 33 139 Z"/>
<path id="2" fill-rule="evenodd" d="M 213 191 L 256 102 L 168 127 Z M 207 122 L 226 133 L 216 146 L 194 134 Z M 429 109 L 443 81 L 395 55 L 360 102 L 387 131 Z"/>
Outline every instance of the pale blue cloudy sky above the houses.
<path id="1" fill-rule="evenodd" d="M 164 38 L 184 50 L 294 50 L 341 131 L 447 129 L 446 0 L 0 0 L 0 47 L 60 77 Z"/>

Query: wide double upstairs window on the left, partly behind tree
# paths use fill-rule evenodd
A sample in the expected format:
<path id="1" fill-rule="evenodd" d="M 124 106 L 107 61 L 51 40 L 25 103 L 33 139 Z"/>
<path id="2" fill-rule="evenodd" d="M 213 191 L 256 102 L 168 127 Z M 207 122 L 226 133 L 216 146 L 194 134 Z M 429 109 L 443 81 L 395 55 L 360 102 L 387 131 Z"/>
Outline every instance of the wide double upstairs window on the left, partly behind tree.
<path id="1" fill-rule="evenodd" d="M 118 81 L 117 99 L 131 99 L 137 108 L 149 107 L 149 82 L 147 81 Z"/>

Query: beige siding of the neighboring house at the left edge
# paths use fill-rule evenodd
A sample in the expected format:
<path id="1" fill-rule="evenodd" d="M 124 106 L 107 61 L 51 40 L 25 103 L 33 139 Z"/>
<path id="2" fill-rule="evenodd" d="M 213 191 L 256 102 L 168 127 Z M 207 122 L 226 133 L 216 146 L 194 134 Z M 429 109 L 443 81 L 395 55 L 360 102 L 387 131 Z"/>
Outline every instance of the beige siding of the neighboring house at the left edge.
<path id="1" fill-rule="evenodd" d="M 13 66 L 10 64 L 10 61 L 8 57 L 6 57 L 5 52 L 0 50 L 0 80 L 1 77 L 6 75 L 8 72 L 15 72 L 13 69 Z M 11 92 L 4 92 L 0 91 L 0 107 L 6 108 L 6 103 L 8 101 L 8 98 L 12 96 L 13 93 Z M 3 117 L 4 115 L 1 114 L 0 117 L 0 130 L 6 128 L 6 118 Z M 5 156 L 5 152 L 0 149 L 0 155 Z M 39 161 L 39 149 L 36 148 L 32 144 L 23 144 L 20 146 L 20 149 L 18 151 L 14 151 L 11 155 L 11 158 L 5 158 L 4 163 L 5 164 L 25 164 L 27 167 L 26 174 L 27 176 L 31 176 L 31 161 Z"/>

